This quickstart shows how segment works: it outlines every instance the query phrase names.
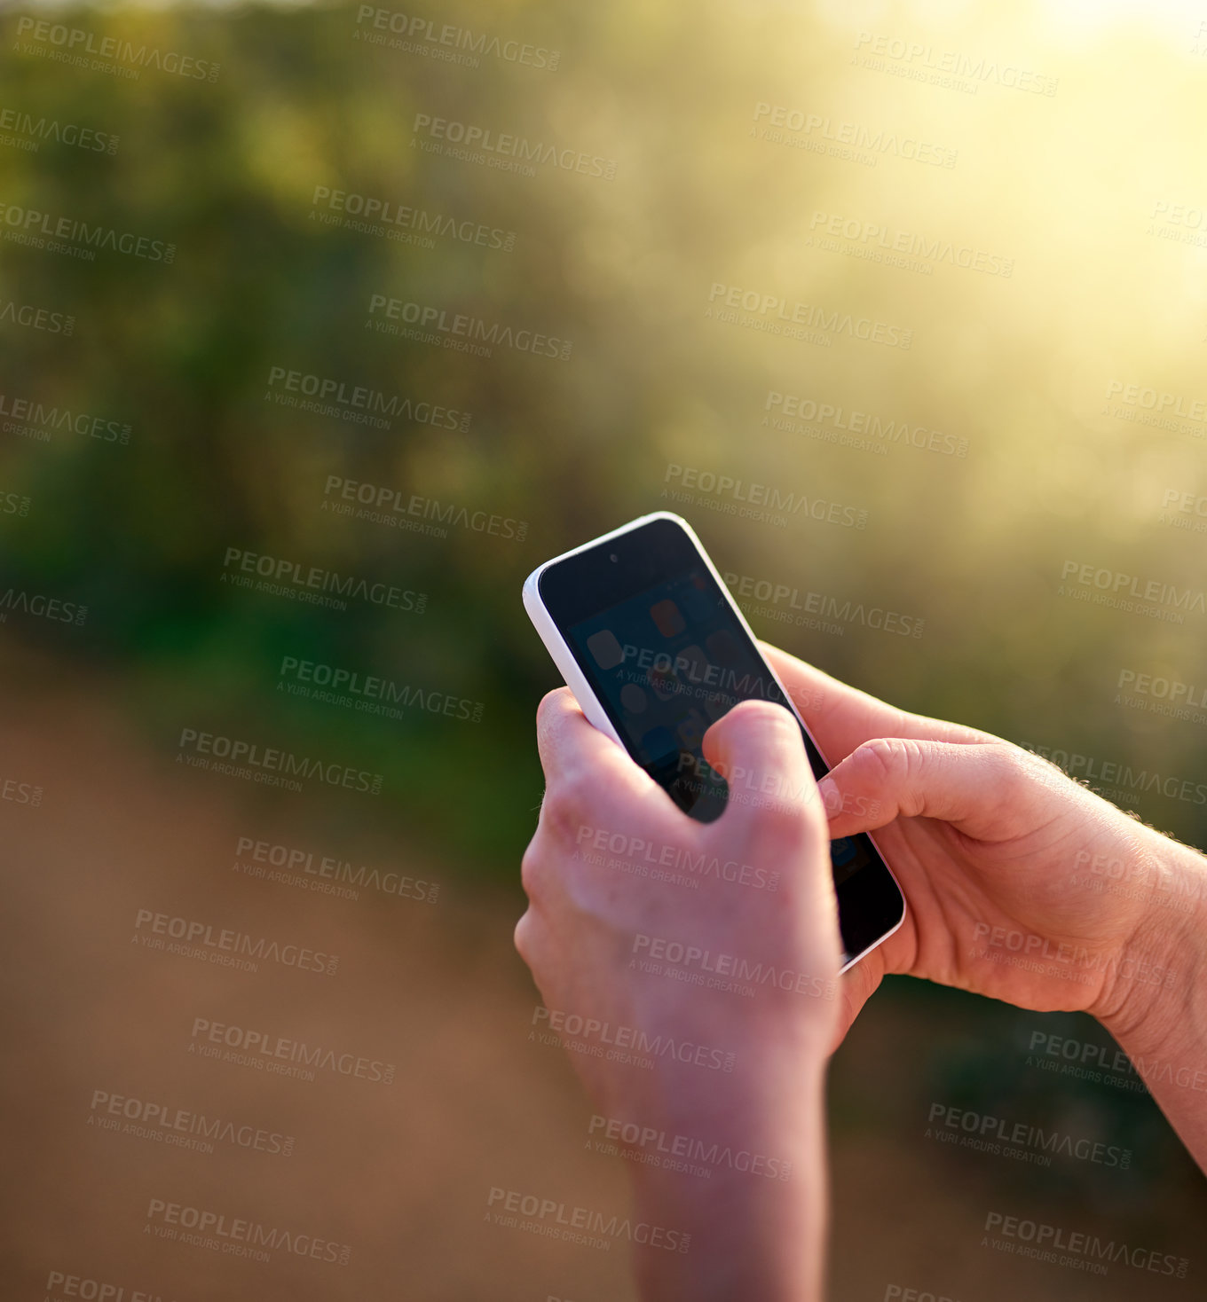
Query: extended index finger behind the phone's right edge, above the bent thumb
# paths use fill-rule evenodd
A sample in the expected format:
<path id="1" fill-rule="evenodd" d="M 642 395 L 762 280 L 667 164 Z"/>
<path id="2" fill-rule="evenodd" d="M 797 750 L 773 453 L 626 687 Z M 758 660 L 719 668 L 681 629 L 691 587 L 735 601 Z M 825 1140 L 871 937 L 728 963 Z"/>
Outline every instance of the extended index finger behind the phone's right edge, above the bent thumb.
<path id="1" fill-rule="evenodd" d="M 796 656 L 759 643 L 772 668 L 789 690 L 826 763 L 837 764 L 856 746 L 873 737 L 907 737 L 915 741 L 983 742 L 996 741 L 989 733 L 945 719 L 928 719 L 890 706 L 867 691 L 832 678 L 828 673 L 798 660 Z"/>

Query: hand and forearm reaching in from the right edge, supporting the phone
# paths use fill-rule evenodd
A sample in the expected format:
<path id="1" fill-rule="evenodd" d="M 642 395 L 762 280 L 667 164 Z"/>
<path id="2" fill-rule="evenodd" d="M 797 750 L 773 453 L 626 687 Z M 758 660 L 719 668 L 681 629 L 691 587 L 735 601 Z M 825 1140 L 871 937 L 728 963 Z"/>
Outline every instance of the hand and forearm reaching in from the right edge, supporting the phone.
<path id="1" fill-rule="evenodd" d="M 1090 1013 L 1207 1169 L 1207 859 L 1019 746 L 763 651 L 812 702 L 830 835 L 875 832 L 907 901 L 843 976 L 838 1039 L 886 973 Z"/>

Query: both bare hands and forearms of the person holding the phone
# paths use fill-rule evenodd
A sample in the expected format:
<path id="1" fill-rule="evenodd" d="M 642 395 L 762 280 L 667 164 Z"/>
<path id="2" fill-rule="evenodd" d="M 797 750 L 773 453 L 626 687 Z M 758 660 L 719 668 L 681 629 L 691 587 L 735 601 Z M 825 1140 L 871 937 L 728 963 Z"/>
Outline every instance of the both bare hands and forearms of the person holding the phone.
<path id="1" fill-rule="evenodd" d="M 763 651 L 834 764 L 820 793 L 795 723 L 769 703 L 735 707 L 705 736 L 733 792 L 712 824 L 675 809 L 567 689 L 537 715 L 546 793 L 523 862 L 529 907 L 516 947 L 546 1006 L 733 1053 L 731 1070 L 673 1056 L 644 1070 L 572 1053 L 598 1115 L 787 1168 L 787 1178 L 764 1165 L 701 1180 L 633 1160 L 635 1219 L 692 1236 L 687 1251 L 635 1247 L 641 1295 L 821 1297 L 825 1062 L 886 973 L 1091 1013 L 1207 1164 L 1207 861 L 1009 742 Z M 906 919 L 832 987 L 839 954 L 826 838 L 860 831 L 876 832 Z M 613 853 L 631 838 L 656 848 L 654 861 L 648 850 Z M 748 880 L 708 876 L 690 889 L 643 875 L 665 862 L 662 848 L 746 865 Z M 777 888 L 753 884 L 757 871 L 764 881 L 778 871 Z M 656 940 L 800 979 L 759 986 L 752 999 L 670 980 L 635 961 Z"/>

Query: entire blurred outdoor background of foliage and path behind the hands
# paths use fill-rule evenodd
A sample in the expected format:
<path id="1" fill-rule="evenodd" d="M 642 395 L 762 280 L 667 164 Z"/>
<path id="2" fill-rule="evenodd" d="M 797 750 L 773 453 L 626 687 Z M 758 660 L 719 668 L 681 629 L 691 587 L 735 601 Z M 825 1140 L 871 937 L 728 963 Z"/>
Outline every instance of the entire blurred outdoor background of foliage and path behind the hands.
<path id="1" fill-rule="evenodd" d="M 0 26 L 5 1297 L 632 1295 L 623 1243 L 484 1217 L 624 1208 L 511 948 L 558 682 L 519 594 L 643 512 L 761 637 L 1204 842 L 1202 5 Z M 222 768 L 253 747 L 308 776 Z M 876 996 L 832 1072 L 836 1299 L 1202 1294 L 1202 1176 L 1040 1032 L 1113 1052 Z M 946 1148 L 936 1099 L 1131 1167 Z M 1189 1273 L 1006 1256 L 991 1211 Z"/>

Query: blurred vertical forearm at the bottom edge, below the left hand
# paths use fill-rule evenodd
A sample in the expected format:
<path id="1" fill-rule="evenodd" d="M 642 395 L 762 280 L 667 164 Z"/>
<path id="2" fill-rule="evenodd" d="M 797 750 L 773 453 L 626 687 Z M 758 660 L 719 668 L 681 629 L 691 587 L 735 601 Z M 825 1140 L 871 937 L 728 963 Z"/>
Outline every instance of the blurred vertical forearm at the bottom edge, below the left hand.
<path id="1" fill-rule="evenodd" d="M 643 1302 L 820 1302 L 824 1074 L 819 1055 L 774 1098 L 678 1117 L 673 1128 L 701 1141 L 683 1159 L 692 1172 L 635 1165 L 637 1219 L 691 1234 L 686 1251 L 635 1250 Z"/>

